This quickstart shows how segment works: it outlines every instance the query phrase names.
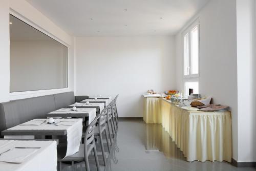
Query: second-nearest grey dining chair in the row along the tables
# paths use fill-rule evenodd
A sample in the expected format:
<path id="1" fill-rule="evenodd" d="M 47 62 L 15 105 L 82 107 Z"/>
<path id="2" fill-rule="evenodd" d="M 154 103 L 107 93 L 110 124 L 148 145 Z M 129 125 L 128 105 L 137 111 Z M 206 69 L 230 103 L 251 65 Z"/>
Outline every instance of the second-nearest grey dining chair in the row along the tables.
<path id="1" fill-rule="evenodd" d="M 99 137 L 103 162 L 104 162 L 105 166 L 106 166 L 107 162 L 106 162 L 104 145 L 103 145 L 103 137 L 102 137 L 103 132 L 105 134 L 105 139 L 106 139 L 106 144 L 108 145 L 109 154 L 110 154 L 110 151 L 111 151 L 110 144 L 109 144 L 109 136 L 106 132 L 106 115 L 107 115 L 107 113 L 108 113 L 108 107 L 106 107 L 102 110 L 102 112 L 100 114 L 100 117 L 98 119 L 98 126 L 95 126 L 95 129 L 94 129 L 94 136 Z"/>

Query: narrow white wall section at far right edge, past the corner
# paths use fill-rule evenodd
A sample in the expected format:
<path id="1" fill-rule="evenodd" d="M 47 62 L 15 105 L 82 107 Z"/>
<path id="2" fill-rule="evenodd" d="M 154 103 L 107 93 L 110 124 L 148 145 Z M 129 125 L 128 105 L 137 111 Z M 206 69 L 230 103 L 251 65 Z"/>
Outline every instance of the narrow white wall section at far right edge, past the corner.
<path id="1" fill-rule="evenodd" d="M 238 154 L 256 161 L 255 1 L 237 0 Z"/>

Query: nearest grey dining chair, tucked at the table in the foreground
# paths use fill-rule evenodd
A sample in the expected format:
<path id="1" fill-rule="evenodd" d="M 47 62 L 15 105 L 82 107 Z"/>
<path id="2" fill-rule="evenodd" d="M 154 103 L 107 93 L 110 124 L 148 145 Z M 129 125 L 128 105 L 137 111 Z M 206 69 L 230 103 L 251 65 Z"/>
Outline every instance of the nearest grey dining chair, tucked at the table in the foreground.
<path id="1" fill-rule="evenodd" d="M 86 170 L 90 171 L 89 167 L 89 155 L 91 151 L 93 150 L 94 157 L 95 157 L 95 162 L 96 162 L 96 167 L 97 170 L 99 171 L 99 161 L 98 161 L 98 156 L 97 156 L 97 150 L 96 150 L 96 145 L 95 145 L 95 139 L 94 139 L 94 130 L 95 130 L 95 124 L 97 120 L 99 119 L 100 115 L 98 114 L 95 119 L 89 124 L 87 127 L 86 133 L 85 133 L 85 138 L 84 138 L 84 143 L 80 144 L 79 151 L 71 156 L 62 158 L 61 155 L 58 156 L 58 163 L 59 163 L 59 170 L 61 171 L 61 162 L 71 162 L 72 163 L 72 170 L 74 167 L 74 162 L 77 161 L 84 161 L 86 163 Z"/>

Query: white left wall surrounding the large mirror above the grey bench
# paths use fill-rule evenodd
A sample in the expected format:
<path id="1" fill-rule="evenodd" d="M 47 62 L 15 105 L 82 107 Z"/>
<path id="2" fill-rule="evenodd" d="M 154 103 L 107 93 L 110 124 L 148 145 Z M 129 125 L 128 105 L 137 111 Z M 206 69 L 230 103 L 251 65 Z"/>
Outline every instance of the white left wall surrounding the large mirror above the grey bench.
<path id="1" fill-rule="evenodd" d="M 68 89 L 32 91 L 25 93 L 9 93 L 10 68 L 9 68 L 9 13 L 25 20 L 36 29 L 48 34 L 68 46 Z M 56 26 L 50 19 L 45 17 L 25 0 L 3 0 L 0 1 L 0 102 L 13 99 L 28 98 L 53 93 L 74 90 L 74 48 L 73 37 Z"/>

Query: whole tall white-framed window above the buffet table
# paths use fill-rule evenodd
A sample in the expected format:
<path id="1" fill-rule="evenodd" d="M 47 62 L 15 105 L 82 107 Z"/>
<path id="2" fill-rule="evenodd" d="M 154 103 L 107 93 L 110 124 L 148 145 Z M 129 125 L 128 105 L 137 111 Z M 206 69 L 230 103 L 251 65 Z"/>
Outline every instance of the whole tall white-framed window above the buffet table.
<path id="1" fill-rule="evenodd" d="M 183 32 L 184 94 L 199 94 L 199 21 Z"/>

